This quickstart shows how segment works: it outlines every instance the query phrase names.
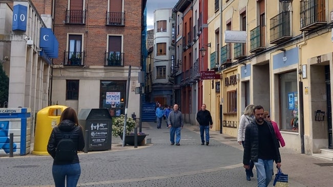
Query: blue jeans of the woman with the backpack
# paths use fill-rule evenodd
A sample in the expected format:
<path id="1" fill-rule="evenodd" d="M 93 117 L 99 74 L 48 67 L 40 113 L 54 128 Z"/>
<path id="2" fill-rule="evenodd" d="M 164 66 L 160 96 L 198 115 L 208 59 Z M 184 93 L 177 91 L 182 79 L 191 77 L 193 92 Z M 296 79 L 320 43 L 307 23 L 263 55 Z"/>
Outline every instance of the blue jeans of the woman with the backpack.
<path id="1" fill-rule="evenodd" d="M 80 163 L 52 166 L 52 175 L 55 187 L 65 187 L 65 178 L 67 181 L 67 187 L 75 187 L 80 174 Z"/>

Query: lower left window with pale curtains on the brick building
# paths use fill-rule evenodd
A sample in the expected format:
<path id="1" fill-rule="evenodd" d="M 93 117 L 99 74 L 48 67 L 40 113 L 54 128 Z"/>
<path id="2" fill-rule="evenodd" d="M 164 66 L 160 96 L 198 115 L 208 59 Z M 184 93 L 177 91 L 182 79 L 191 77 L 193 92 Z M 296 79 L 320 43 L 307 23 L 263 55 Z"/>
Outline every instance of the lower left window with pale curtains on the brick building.
<path id="1" fill-rule="evenodd" d="M 68 56 L 67 56 L 67 64 L 71 66 L 80 66 L 82 65 L 82 35 L 74 35 L 70 34 L 68 36 Z"/>

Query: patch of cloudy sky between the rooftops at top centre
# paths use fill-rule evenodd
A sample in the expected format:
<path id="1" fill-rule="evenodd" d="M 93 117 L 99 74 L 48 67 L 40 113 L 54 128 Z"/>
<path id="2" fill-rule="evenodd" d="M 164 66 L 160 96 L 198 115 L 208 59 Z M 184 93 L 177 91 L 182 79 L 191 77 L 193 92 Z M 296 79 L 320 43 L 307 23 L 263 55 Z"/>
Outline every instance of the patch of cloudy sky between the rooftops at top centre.
<path id="1" fill-rule="evenodd" d="M 154 11 L 160 8 L 174 8 L 178 0 L 147 0 L 147 30 L 154 28 Z"/>

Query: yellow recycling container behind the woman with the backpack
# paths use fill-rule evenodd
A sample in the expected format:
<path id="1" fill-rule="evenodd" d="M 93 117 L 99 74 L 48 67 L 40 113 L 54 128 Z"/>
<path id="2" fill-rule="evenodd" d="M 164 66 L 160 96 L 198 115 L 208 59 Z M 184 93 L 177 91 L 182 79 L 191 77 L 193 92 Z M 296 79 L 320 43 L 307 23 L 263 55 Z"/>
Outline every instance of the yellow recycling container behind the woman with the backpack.
<path id="1" fill-rule="evenodd" d="M 33 155 L 49 155 L 47 145 L 52 129 L 58 125 L 60 116 L 68 108 L 61 105 L 52 105 L 37 112 L 35 141 L 33 146 Z"/>

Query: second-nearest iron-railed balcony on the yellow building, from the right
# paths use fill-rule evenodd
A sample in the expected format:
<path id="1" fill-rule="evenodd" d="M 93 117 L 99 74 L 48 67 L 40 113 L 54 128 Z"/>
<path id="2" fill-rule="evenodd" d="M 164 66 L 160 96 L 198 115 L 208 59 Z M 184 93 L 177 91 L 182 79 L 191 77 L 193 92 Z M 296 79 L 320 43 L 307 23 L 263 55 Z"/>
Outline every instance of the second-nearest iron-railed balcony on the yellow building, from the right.
<path id="1" fill-rule="evenodd" d="M 291 11 L 284 11 L 270 18 L 270 44 L 281 44 L 293 38 L 291 18 Z"/>

